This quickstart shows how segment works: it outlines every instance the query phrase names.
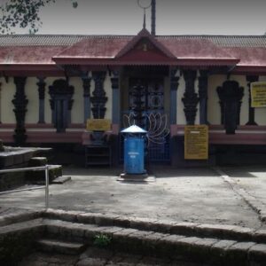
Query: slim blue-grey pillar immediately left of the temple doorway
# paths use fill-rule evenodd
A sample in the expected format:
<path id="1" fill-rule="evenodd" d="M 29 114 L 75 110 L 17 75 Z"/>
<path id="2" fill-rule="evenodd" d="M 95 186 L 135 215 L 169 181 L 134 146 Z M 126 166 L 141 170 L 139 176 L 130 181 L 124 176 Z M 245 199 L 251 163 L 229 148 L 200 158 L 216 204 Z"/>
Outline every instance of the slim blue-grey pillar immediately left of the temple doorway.
<path id="1" fill-rule="evenodd" d="M 112 104 L 112 122 L 113 124 L 120 123 L 120 90 L 119 90 L 119 73 L 113 72 L 111 78 L 113 90 L 113 104 Z"/>

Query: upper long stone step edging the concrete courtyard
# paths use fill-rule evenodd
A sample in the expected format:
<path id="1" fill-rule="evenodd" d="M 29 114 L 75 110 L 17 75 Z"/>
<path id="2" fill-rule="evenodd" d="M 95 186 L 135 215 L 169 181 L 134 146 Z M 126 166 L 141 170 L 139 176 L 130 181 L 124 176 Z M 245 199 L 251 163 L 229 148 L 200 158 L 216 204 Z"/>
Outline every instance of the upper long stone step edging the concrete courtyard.
<path id="1" fill-rule="evenodd" d="M 255 230 L 227 224 L 180 223 L 165 220 L 136 218 L 122 215 L 83 213 L 48 209 L 44 218 L 61 221 L 96 224 L 100 226 L 118 226 L 141 231 L 156 231 L 168 234 L 181 234 L 187 237 L 217 238 L 235 241 L 251 241 L 266 244 L 266 230 Z"/>

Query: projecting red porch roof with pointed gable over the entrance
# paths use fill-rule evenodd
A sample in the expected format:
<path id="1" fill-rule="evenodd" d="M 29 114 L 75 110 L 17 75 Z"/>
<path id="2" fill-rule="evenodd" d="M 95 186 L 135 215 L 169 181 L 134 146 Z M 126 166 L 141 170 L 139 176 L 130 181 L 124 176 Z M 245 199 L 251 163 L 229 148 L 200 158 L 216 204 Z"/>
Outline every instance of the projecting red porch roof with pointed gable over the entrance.
<path id="1" fill-rule="evenodd" d="M 219 65 L 219 63 L 217 63 L 219 60 L 227 60 L 226 64 L 229 64 L 229 61 L 234 63 L 239 61 L 238 58 L 234 58 L 231 54 L 224 51 L 223 48 L 217 47 L 207 39 L 153 37 L 145 29 L 135 37 L 106 38 L 103 36 L 102 38 L 84 39 L 81 42 L 75 43 L 73 46 L 66 48 L 65 51 L 62 51 L 53 59 L 62 64 L 70 64 L 73 59 L 77 64 L 90 63 L 89 61 L 91 61 L 91 59 L 98 59 L 98 63 L 100 62 L 100 59 L 118 59 L 132 50 L 137 42 L 144 37 L 147 37 L 157 49 L 161 51 L 161 53 L 165 54 L 165 57 L 168 57 L 168 59 L 179 59 L 178 63 L 180 64 L 184 64 L 181 63 L 180 59 L 189 60 L 189 64 L 192 64 L 192 59 L 199 61 L 204 60 L 205 65 L 214 64 L 214 62 L 216 62 L 215 65 Z M 134 55 L 138 56 L 137 64 L 141 64 L 141 62 L 157 62 L 160 64 L 160 60 L 163 60 L 158 55 L 156 57 L 155 54 L 153 57 L 154 59 L 158 58 L 158 61 L 145 61 L 145 59 L 149 58 L 148 56 L 145 56 L 145 53 L 141 54 L 140 52 L 137 52 L 137 54 Z M 130 57 L 130 62 L 121 60 L 121 64 L 132 63 L 132 58 L 133 56 Z M 171 60 L 168 61 L 170 62 Z M 166 64 L 168 61 L 164 60 Z M 107 63 L 106 61 L 104 62 Z M 118 64 L 118 60 L 115 61 L 115 64 Z M 221 64 L 223 65 L 222 62 Z"/>

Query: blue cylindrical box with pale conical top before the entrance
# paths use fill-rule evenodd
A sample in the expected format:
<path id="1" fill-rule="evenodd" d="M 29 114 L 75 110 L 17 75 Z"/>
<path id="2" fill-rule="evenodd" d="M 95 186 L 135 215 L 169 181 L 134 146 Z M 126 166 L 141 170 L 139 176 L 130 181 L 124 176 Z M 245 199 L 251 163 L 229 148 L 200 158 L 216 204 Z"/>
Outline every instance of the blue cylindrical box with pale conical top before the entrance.
<path id="1" fill-rule="evenodd" d="M 137 125 L 121 130 L 124 137 L 124 174 L 123 176 L 146 176 L 145 136 L 147 131 Z"/>

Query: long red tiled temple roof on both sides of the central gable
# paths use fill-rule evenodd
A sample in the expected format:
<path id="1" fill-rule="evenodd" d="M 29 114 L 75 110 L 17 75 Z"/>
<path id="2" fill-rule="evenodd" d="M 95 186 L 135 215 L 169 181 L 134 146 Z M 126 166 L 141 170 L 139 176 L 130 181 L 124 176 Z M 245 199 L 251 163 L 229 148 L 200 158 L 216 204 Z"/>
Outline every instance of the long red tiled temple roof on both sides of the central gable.
<path id="1" fill-rule="evenodd" d="M 115 57 L 122 51 L 129 52 L 126 47 L 135 38 L 137 36 L 130 35 L 0 35 L 0 65 L 55 65 L 52 58 L 56 62 L 69 59 L 69 64 L 71 59 L 81 59 L 83 63 L 117 63 Z M 159 43 L 157 48 L 163 51 L 166 59 L 170 55 L 176 57 L 177 66 L 237 64 L 266 67 L 266 35 L 151 38 Z"/>

